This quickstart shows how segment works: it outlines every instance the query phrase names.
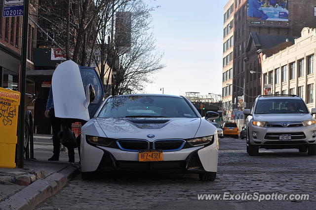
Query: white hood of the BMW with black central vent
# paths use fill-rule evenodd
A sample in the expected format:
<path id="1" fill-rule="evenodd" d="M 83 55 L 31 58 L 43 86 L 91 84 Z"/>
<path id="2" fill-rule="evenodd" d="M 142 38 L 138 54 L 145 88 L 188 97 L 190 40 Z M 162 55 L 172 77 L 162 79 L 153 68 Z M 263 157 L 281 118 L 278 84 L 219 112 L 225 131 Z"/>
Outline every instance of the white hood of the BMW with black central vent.
<path id="1" fill-rule="evenodd" d="M 200 118 L 96 118 L 108 138 L 115 139 L 188 139 L 194 138 Z M 155 135 L 153 138 L 147 135 Z"/>

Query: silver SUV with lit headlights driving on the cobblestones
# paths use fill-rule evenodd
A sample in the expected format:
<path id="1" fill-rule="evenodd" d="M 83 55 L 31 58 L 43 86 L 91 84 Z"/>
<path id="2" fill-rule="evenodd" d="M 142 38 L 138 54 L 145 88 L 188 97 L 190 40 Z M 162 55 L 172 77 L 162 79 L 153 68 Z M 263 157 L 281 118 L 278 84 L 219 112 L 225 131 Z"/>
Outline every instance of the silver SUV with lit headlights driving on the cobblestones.
<path id="1" fill-rule="evenodd" d="M 257 156 L 259 148 L 299 149 L 316 155 L 316 121 L 297 95 L 259 95 L 247 115 L 247 153 Z"/>

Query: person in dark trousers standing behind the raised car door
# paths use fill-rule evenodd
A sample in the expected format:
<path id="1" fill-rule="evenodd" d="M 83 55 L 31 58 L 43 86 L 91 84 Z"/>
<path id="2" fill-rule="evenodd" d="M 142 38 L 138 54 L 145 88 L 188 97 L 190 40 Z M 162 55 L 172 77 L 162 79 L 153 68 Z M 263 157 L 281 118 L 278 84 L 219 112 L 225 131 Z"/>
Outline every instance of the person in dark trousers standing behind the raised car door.
<path id="1" fill-rule="evenodd" d="M 46 118 L 50 119 L 51 126 L 53 129 L 53 156 L 48 159 L 48 161 L 59 161 L 60 152 L 60 138 L 58 133 L 61 131 L 62 120 L 61 118 L 55 117 L 54 101 L 53 101 L 53 91 L 52 87 L 49 89 L 49 95 L 46 104 L 46 111 L 44 113 Z M 73 147 L 67 147 L 68 157 L 70 163 L 75 162 L 75 149 Z"/>

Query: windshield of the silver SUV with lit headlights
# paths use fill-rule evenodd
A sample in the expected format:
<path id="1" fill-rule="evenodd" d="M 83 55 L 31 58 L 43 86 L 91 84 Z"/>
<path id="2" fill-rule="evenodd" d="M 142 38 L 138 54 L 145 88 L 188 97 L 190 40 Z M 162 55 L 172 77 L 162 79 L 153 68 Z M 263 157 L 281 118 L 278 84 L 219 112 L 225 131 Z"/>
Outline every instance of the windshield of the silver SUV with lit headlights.
<path id="1" fill-rule="evenodd" d="M 279 98 L 258 100 L 255 114 L 308 114 L 309 111 L 301 99 Z"/>

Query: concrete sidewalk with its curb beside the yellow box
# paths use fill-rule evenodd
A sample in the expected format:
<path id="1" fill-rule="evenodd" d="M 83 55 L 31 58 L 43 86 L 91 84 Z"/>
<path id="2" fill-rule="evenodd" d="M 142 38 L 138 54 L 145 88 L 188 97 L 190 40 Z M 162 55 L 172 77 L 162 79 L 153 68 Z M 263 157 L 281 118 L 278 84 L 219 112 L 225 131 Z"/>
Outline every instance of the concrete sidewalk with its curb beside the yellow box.
<path id="1" fill-rule="evenodd" d="M 36 145 L 37 141 L 40 145 L 47 143 L 43 148 Z M 50 136 L 36 135 L 34 147 L 36 160 L 25 160 L 24 168 L 0 168 L 0 210 L 32 210 L 78 172 L 78 158 L 77 163 L 68 163 L 67 154 L 59 162 L 47 161 L 52 155 Z"/>

